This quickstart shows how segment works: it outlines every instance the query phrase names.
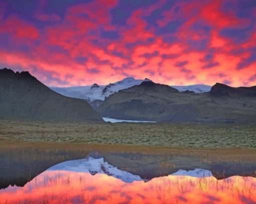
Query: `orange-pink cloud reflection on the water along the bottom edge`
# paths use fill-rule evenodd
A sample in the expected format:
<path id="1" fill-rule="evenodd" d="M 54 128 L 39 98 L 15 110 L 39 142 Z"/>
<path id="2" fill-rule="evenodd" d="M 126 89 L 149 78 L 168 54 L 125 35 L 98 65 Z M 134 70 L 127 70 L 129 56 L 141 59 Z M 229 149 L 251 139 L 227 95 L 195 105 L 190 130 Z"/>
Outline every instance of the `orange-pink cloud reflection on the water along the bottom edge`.
<path id="1" fill-rule="evenodd" d="M 253 203 L 256 201 L 253 195 L 256 189 L 251 187 L 253 183 L 256 183 L 253 177 L 233 176 L 226 182 L 225 179 L 217 180 L 214 177 L 174 175 L 154 178 L 146 183 L 124 183 L 105 174 L 92 176 L 90 173 L 48 170 L 24 187 L 0 190 L 0 195 L 2 200 L 10 201 L 7 203 L 11 203 L 11 199 L 15 198 L 22 202 L 28 199 L 35 202 L 43 199 L 60 202 L 63 201 L 63 196 L 73 203 L 168 203 L 176 200 L 192 203 L 226 203 L 230 199 L 234 203 Z M 241 194 L 243 196 L 240 196 Z"/>

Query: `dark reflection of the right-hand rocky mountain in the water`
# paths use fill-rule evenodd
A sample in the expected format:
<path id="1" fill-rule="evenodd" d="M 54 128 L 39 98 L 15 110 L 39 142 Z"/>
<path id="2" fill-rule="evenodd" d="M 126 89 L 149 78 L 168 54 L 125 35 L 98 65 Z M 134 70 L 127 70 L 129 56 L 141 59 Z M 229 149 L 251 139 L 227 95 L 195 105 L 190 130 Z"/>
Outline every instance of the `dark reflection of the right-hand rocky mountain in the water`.
<path id="1" fill-rule="evenodd" d="M 166 176 L 173 173 L 194 170 L 207 169 L 217 179 L 224 179 L 233 175 L 256 177 L 256 163 L 246 161 L 208 161 L 207 157 L 195 155 L 154 155 L 142 153 L 108 153 L 91 152 L 88 156 L 92 158 L 104 158 L 104 161 L 116 166 L 126 172 L 139 175 L 143 179 L 152 179 L 155 177 Z M 190 172 L 190 171 L 189 171 Z M 188 175 L 188 174 L 186 174 Z"/>

